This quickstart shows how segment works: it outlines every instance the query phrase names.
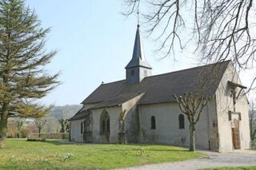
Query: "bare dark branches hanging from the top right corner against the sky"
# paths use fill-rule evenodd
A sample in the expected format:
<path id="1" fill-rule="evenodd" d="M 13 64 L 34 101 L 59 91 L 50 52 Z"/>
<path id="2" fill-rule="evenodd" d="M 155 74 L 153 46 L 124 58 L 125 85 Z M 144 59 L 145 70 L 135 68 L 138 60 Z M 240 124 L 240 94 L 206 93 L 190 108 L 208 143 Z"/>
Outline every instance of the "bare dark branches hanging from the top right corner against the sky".
<path id="1" fill-rule="evenodd" d="M 254 0 L 124 0 L 130 15 L 141 9 L 149 36 L 166 56 L 194 45 L 206 62 L 230 59 L 239 69 L 252 68 L 256 58 Z M 178 45 L 177 47 L 175 45 Z M 254 89 L 253 83 L 250 89 Z M 250 90 L 249 89 L 249 90 Z"/>

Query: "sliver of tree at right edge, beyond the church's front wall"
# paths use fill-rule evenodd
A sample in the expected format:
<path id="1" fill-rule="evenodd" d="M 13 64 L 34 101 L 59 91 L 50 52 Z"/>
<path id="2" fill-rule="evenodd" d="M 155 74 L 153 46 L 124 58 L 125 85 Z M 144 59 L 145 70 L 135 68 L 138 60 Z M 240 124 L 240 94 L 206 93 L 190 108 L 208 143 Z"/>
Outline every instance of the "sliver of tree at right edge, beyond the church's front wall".
<path id="1" fill-rule="evenodd" d="M 250 122 L 250 140 L 252 147 L 255 147 L 256 140 L 256 109 L 254 105 L 254 101 L 250 104 L 249 110 L 249 122 Z"/>

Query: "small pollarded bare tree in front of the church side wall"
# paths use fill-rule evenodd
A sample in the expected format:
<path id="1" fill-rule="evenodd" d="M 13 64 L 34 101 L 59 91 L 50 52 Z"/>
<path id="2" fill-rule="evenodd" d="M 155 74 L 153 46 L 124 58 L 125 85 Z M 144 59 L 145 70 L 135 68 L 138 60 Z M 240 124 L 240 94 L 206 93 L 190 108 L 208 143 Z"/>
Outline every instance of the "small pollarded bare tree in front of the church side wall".
<path id="1" fill-rule="evenodd" d="M 195 136 L 196 124 L 199 121 L 202 110 L 210 101 L 210 97 L 204 97 L 199 93 L 184 93 L 177 97 L 174 94 L 174 99 L 178 102 L 179 109 L 186 115 L 190 122 L 190 151 L 195 151 Z"/>

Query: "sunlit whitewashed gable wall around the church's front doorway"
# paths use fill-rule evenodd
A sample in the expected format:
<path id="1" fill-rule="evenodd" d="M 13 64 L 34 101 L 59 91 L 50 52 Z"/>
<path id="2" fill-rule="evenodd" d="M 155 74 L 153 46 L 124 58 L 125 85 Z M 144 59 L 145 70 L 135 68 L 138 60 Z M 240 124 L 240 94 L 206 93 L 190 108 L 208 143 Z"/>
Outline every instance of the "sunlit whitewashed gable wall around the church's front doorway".
<path id="1" fill-rule="evenodd" d="M 219 135 L 219 152 L 233 151 L 231 121 L 229 121 L 229 110 L 234 111 L 233 99 L 227 81 L 233 81 L 242 84 L 238 74 L 234 72 L 233 67 L 226 69 L 222 81 L 218 85 L 216 92 L 217 111 L 218 111 L 218 135 Z M 238 91 L 240 88 L 238 88 Z M 237 93 L 238 93 L 237 91 Z M 239 122 L 241 148 L 250 147 L 250 128 L 248 117 L 248 101 L 244 92 L 240 94 L 236 104 L 236 112 L 241 113 L 242 121 Z"/>

